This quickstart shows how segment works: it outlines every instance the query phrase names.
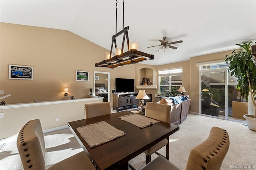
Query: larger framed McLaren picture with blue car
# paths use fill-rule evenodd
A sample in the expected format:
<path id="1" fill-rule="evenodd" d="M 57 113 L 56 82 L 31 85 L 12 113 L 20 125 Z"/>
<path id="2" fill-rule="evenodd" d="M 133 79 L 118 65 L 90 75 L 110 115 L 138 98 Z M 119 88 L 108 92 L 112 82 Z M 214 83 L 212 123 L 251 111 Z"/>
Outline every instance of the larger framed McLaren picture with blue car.
<path id="1" fill-rule="evenodd" d="M 33 80 L 33 67 L 9 64 L 9 79 Z"/>

